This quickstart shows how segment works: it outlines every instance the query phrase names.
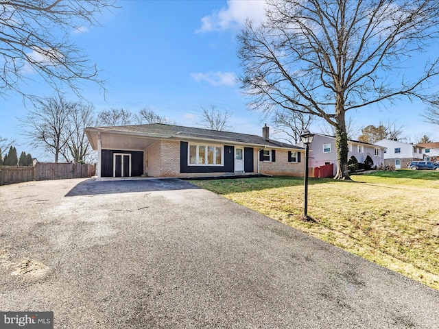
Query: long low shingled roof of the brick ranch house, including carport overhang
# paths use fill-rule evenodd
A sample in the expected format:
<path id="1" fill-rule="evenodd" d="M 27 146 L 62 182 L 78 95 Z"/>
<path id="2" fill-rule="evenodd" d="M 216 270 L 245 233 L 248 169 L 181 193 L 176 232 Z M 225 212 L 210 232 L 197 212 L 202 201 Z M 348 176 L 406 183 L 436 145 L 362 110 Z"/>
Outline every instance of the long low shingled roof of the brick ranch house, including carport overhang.
<path id="1" fill-rule="evenodd" d="M 180 125 L 165 125 L 163 123 L 152 123 L 145 125 L 122 125 L 117 127 L 88 127 L 86 128 L 86 134 L 88 140 L 91 143 L 93 149 L 97 149 L 97 134 L 106 136 L 108 138 L 108 144 L 103 145 L 105 148 L 120 148 L 122 145 L 117 145 L 117 140 L 122 136 L 130 139 L 130 144 L 133 146 L 131 149 L 145 149 L 148 141 L 156 141 L 158 139 L 174 139 L 180 141 L 216 141 L 225 143 L 237 143 L 240 145 L 254 145 L 260 147 L 271 147 L 276 149 L 296 149 L 302 150 L 302 147 L 295 145 L 282 143 L 270 139 L 265 141 L 261 136 L 251 134 L 240 134 L 237 132 L 219 132 L 215 130 L 184 127 Z M 140 138 L 139 143 L 133 140 L 133 138 Z M 112 142 L 110 142 L 110 140 Z M 127 142 L 125 142 L 127 143 Z M 134 147 L 136 145 L 136 147 Z"/>

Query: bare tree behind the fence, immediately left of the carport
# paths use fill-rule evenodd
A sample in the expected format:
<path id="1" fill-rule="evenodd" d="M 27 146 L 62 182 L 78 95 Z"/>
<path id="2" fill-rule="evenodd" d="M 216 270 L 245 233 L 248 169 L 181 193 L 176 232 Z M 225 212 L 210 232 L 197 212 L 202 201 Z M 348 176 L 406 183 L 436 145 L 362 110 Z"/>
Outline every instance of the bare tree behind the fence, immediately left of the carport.
<path id="1" fill-rule="evenodd" d="M 62 149 L 62 155 L 66 160 L 73 162 L 90 161 L 94 153 L 84 129 L 95 125 L 95 107 L 91 103 L 73 103 L 68 119 L 69 126 L 66 127 L 68 131 L 64 134 L 67 136 L 67 141 Z"/>

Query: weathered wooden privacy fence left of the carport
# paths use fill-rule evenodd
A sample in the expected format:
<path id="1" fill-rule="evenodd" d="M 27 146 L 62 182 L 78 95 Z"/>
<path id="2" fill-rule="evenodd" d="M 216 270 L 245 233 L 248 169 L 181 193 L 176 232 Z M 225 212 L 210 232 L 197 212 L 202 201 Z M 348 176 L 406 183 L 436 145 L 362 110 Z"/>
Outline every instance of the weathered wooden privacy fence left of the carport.
<path id="1" fill-rule="evenodd" d="M 0 166 L 0 185 L 29 180 L 67 180 L 95 175 L 94 164 L 38 162 L 35 167 Z"/>

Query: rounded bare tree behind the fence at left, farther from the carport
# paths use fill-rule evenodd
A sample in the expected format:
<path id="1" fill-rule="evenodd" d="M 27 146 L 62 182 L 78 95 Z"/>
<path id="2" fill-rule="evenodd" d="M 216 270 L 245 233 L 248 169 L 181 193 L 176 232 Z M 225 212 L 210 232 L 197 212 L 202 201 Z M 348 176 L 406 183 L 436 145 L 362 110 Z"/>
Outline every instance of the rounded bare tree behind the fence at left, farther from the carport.
<path id="1" fill-rule="evenodd" d="M 70 138 L 69 117 L 74 109 L 73 103 L 62 95 L 38 99 L 34 110 L 29 110 L 24 118 L 19 118 L 23 133 L 32 146 L 43 146 L 55 156 L 58 162 L 60 155 Z M 69 160 L 65 158 L 65 160 Z"/>

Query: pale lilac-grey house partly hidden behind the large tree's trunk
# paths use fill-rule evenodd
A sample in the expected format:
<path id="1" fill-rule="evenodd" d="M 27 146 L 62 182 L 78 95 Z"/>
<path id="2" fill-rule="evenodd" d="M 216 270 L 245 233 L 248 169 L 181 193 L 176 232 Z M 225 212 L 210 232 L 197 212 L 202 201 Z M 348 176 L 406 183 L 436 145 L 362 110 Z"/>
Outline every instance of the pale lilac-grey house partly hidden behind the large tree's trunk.
<path id="1" fill-rule="evenodd" d="M 297 144 L 304 147 L 303 143 Z M 348 140 L 348 158 L 355 156 L 358 162 L 366 160 L 370 156 L 374 166 L 379 166 L 384 162 L 384 147 L 363 143 L 359 141 Z M 334 175 L 337 173 L 337 150 L 335 149 L 335 137 L 324 134 L 315 134 L 312 143 L 309 145 L 309 167 L 320 167 L 325 164 L 334 164 Z"/>

